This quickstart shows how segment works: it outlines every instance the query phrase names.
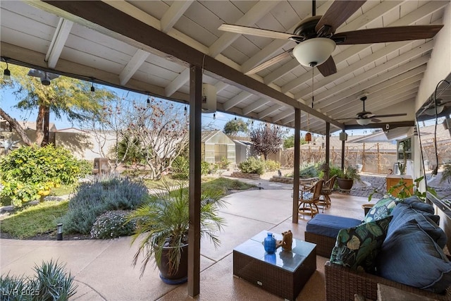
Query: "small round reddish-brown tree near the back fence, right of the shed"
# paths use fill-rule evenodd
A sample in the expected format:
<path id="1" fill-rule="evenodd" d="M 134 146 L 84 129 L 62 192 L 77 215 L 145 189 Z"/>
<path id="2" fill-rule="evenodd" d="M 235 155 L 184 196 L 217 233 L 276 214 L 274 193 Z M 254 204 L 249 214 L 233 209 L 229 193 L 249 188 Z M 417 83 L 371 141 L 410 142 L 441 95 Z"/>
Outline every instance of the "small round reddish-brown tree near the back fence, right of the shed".
<path id="1" fill-rule="evenodd" d="M 261 125 L 250 133 L 251 141 L 254 143 L 254 150 L 257 154 L 262 154 L 264 159 L 270 152 L 276 154 L 282 145 L 285 130 L 277 125 Z"/>

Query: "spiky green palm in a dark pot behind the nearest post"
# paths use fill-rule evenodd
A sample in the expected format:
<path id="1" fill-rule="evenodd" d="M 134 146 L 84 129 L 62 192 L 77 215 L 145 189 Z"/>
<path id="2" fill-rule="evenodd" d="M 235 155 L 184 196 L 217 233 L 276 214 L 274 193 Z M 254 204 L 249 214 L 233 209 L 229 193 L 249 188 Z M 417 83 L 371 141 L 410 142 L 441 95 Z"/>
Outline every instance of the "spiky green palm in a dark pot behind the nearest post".
<path id="1" fill-rule="evenodd" d="M 149 261 L 155 259 L 163 282 L 179 284 L 187 281 L 190 195 L 185 186 L 183 181 L 171 185 L 162 180 L 158 192 L 149 195 L 140 208 L 128 215 L 126 223 L 136 224 L 132 244 L 140 239 L 133 266 L 137 264 L 140 254 L 144 257 L 141 276 Z M 212 191 L 203 192 L 201 197 L 200 235 L 201 238 L 208 237 L 215 247 L 220 244 L 215 233 L 221 231 L 225 224 L 224 219 L 218 216 L 218 209 L 226 204 L 221 197 L 221 192 Z"/>

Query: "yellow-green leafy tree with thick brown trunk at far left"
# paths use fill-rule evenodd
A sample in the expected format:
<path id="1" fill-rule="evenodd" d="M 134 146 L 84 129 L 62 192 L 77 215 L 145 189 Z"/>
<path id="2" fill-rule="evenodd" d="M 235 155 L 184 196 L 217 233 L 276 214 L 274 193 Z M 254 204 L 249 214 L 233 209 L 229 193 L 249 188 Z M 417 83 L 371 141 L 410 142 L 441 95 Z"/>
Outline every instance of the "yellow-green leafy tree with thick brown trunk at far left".
<path id="1" fill-rule="evenodd" d="M 98 116 L 101 103 L 114 97 L 113 92 L 97 88 L 91 92 L 91 84 L 83 80 L 60 76 L 51 80 L 50 85 L 42 85 L 39 78 L 27 75 L 29 68 L 8 64 L 11 82 L 1 80 L 1 88 L 10 88 L 18 99 L 16 108 L 21 111 L 37 110 L 36 138 L 32 141 L 15 118 L 0 109 L 0 116 L 12 126 L 25 145 L 47 145 L 49 114 L 54 113 L 59 120 L 82 121 L 89 116 Z"/>

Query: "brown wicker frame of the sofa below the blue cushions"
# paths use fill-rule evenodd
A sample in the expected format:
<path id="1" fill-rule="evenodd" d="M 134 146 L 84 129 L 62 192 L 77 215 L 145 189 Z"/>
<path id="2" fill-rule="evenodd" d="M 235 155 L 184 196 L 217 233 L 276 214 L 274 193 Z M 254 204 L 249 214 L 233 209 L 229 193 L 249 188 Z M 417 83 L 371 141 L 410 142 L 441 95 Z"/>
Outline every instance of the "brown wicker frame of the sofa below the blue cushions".
<path id="1" fill-rule="evenodd" d="M 437 300 L 451 300 L 450 288 L 444 295 L 435 294 L 365 272 L 354 271 L 331 262 L 326 262 L 324 272 L 326 274 L 326 300 L 354 300 L 354 294 L 377 300 L 378 283 Z"/>

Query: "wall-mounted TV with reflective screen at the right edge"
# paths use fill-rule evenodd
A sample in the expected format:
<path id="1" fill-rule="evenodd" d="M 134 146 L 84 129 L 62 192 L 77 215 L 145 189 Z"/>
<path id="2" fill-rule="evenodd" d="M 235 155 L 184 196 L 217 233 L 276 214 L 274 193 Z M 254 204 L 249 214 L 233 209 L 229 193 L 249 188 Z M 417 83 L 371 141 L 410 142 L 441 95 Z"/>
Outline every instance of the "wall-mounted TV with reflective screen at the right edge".
<path id="1" fill-rule="evenodd" d="M 446 204 L 451 211 L 451 74 L 438 83 L 437 89 L 416 112 L 422 173 L 428 193 L 435 204 Z"/>

